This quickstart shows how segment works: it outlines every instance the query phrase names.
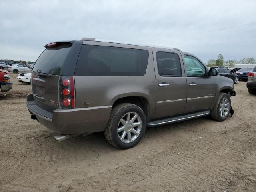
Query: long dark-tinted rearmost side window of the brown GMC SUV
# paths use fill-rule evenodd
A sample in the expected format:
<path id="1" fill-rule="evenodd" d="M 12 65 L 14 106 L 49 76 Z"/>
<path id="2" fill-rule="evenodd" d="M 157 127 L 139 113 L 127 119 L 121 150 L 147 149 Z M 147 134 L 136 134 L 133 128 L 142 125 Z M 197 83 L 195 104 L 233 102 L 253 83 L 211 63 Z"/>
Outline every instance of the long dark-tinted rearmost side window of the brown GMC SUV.
<path id="1" fill-rule="evenodd" d="M 148 65 L 148 50 L 83 45 L 76 76 L 143 76 Z"/>

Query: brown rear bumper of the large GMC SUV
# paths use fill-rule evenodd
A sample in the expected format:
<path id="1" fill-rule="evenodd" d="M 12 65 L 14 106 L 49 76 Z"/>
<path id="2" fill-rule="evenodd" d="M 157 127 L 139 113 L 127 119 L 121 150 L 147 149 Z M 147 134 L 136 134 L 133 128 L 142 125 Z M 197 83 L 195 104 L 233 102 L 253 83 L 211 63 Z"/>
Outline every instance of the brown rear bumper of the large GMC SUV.
<path id="1" fill-rule="evenodd" d="M 34 102 L 32 94 L 27 97 L 31 118 L 58 134 L 84 134 L 104 131 L 112 106 L 61 109 L 48 112 Z"/>

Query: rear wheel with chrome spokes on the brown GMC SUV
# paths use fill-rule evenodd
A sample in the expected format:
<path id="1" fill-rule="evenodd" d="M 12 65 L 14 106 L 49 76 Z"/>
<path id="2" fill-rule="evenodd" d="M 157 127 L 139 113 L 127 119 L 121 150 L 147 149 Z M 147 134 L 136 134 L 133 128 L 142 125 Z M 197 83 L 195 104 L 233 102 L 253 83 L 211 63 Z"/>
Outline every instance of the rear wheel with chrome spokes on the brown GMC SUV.
<path id="1" fill-rule="evenodd" d="M 143 110 L 130 103 L 115 106 L 110 114 L 104 135 L 108 142 L 120 149 L 136 146 L 146 131 L 146 116 Z"/>

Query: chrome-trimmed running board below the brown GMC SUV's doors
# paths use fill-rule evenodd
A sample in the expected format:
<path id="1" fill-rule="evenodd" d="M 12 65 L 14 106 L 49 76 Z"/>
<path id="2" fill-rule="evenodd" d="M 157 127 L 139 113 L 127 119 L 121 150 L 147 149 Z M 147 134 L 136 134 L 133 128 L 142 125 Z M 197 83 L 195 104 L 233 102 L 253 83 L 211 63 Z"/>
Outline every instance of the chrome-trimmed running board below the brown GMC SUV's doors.
<path id="1" fill-rule="evenodd" d="M 160 119 L 160 120 L 153 120 L 153 121 L 148 122 L 147 126 L 155 127 L 155 126 L 175 123 L 175 122 L 179 122 L 179 121 L 189 120 L 189 119 L 193 119 L 193 118 L 197 118 L 197 117 L 202 117 L 202 116 L 206 116 L 208 114 L 210 114 L 210 110 L 203 110 L 200 112 L 183 114 L 183 115 L 169 117 L 169 118 Z"/>

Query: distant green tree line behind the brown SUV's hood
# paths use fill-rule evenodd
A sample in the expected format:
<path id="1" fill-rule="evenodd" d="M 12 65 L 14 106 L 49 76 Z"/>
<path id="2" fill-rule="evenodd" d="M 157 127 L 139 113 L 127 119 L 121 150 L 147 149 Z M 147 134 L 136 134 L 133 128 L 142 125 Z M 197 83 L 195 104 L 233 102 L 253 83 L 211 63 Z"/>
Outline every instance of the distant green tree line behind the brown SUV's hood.
<path id="1" fill-rule="evenodd" d="M 240 63 L 256 63 L 256 60 L 252 57 L 248 58 L 243 58 L 241 60 L 224 60 L 224 57 L 222 54 L 219 54 L 217 59 L 210 59 L 207 62 L 207 66 L 228 66 L 228 67 L 234 67 L 235 64 L 240 64 Z"/>

